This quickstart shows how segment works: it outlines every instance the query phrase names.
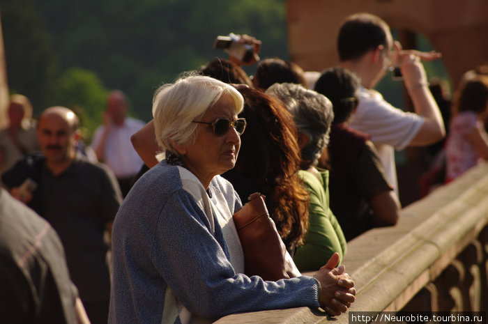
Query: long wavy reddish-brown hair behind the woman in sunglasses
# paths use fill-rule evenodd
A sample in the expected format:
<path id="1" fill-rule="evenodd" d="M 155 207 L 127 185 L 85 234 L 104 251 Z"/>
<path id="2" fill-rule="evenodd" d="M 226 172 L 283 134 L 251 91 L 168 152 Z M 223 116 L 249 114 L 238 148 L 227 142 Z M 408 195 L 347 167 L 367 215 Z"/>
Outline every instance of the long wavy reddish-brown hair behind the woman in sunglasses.
<path id="1" fill-rule="evenodd" d="M 287 246 L 303 244 L 308 224 L 308 193 L 298 178 L 300 148 L 293 118 L 282 102 L 253 88 L 239 90 L 239 115 L 247 121 L 236 169 L 266 196 L 266 206 Z"/>

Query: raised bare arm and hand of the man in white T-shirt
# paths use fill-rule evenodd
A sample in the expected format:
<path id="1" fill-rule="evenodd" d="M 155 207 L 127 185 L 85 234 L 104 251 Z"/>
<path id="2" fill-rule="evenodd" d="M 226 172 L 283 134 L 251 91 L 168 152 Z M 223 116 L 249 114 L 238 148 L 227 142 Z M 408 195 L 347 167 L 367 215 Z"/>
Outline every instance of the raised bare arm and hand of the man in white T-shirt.
<path id="1" fill-rule="evenodd" d="M 441 111 L 429 90 L 427 75 L 420 59 L 432 61 L 439 58 L 438 53 L 421 53 L 417 51 L 399 51 L 399 62 L 404 84 L 413 102 L 415 113 L 424 118 L 422 127 L 410 142 L 412 146 L 425 146 L 445 137 L 445 127 Z"/>

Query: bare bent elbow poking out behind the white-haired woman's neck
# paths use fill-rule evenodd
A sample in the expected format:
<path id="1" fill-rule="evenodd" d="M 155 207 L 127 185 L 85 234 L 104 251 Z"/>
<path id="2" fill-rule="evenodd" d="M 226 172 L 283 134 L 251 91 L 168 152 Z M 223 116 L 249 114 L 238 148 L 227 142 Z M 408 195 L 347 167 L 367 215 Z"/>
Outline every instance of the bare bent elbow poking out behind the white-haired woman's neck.
<path id="1" fill-rule="evenodd" d="M 161 151 L 161 148 L 155 139 L 153 121 L 150 121 L 143 128 L 135 132 L 135 134 L 132 134 L 130 141 L 147 167 L 152 168 L 158 164 L 155 155 L 158 151 Z"/>

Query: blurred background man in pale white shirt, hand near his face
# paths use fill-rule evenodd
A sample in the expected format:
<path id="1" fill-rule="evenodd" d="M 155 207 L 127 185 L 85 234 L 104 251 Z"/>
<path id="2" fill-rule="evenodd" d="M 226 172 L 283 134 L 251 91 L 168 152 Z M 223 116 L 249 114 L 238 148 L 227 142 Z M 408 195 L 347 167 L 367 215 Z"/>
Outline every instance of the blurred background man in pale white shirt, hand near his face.
<path id="1" fill-rule="evenodd" d="M 104 125 L 97 128 L 91 144 L 98 160 L 114 172 L 124 197 L 130 190 L 132 179 L 144 164 L 132 147 L 130 137 L 145 123 L 127 117 L 127 110 L 128 103 L 123 92 L 111 91 L 103 116 Z"/>

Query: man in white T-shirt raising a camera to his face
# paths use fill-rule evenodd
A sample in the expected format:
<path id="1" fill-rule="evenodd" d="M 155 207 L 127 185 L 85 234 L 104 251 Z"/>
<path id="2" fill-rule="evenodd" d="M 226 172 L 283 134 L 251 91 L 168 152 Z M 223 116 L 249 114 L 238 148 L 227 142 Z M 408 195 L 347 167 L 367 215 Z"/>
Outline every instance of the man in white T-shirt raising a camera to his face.
<path id="1" fill-rule="evenodd" d="M 445 136 L 441 112 L 420 63 L 420 59 L 438 59 L 440 54 L 402 50 L 399 43 L 393 43 L 388 24 L 368 13 L 354 14 L 344 20 L 337 37 L 337 50 L 340 66 L 361 79 L 359 105 L 350 126 L 369 134 L 388 180 L 398 194 L 394 148 L 426 146 Z M 402 72 L 415 113 L 393 107 L 372 90 L 392 66 Z"/>

